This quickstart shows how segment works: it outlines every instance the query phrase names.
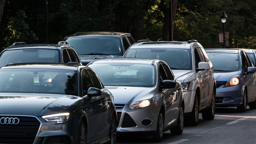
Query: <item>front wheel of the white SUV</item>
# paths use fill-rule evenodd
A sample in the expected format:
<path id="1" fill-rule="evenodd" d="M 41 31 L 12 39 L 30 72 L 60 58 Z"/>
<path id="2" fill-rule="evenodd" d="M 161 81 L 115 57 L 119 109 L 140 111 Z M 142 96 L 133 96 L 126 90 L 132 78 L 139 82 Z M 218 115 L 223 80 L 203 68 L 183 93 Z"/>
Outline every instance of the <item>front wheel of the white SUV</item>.
<path id="1" fill-rule="evenodd" d="M 198 94 L 196 93 L 191 115 L 184 119 L 185 124 L 189 126 L 196 126 L 198 124 L 198 118 L 199 118 L 199 103 L 198 103 Z"/>

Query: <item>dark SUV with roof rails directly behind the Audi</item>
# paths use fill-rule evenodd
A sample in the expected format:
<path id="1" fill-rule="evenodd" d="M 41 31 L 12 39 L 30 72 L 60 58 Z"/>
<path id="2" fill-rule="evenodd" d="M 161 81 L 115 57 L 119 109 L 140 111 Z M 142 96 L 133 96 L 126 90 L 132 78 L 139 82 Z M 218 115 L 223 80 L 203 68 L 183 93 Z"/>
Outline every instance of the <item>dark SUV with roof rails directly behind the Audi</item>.
<path id="1" fill-rule="evenodd" d="M 17 42 L 0 53 L 0 67 L 11 63 L 73 63 L 82 65 L 74 48 L 66 41 L 56 44 Z"/>

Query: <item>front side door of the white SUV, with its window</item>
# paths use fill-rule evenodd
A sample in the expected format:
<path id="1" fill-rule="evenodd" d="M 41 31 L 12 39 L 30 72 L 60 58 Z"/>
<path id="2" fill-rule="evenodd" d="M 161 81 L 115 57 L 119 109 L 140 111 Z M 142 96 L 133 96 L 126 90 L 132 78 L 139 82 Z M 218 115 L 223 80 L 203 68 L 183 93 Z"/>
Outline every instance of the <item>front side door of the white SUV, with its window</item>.
<path id="1" fill-rule="evenodd" d="M 198 68 L 199 62 L 205 62 L 205 58 L 203 57 L 202 51 L 199 46 L 194 47 L 194 55 L 195 55 L 195 66 Z M 207 70 L 200 70 L 197 71 L 197 78 L 200 85 L 200 107 L 205 106 L 209 100 L 209 93 L 208 93 L 208 83 L 209 74 Z"/>

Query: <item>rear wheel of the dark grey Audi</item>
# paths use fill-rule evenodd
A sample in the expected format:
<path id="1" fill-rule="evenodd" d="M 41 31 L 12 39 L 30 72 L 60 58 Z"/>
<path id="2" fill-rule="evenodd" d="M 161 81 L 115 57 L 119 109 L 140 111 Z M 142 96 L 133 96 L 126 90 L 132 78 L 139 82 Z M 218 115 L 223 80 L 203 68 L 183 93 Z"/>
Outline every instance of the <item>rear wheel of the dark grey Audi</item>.
<path id="1" fill-rule="evenodd" d="M 109 127 L 109 141 L 108 144 L 115 144 L 117 143 L 117 119 L 115 116 L 112 116 L 111 122 L 110 122 L 110 127 Z"/>

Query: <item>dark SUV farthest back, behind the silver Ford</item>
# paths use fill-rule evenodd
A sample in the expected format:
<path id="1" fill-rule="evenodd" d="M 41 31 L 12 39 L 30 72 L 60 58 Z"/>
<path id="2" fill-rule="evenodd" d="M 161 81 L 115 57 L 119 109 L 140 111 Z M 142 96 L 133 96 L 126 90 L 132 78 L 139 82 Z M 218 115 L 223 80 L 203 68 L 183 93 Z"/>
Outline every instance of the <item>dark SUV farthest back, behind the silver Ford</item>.
<path id="1" fill-rule="evenodd" d="M 97 58 L 122 57 L 135 43 L 131 34 L 119 32 L 80 32 L 63 41 L 74 47 L 83 65 Z"/>

